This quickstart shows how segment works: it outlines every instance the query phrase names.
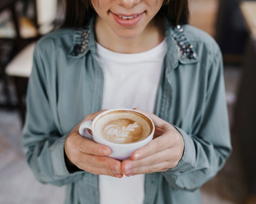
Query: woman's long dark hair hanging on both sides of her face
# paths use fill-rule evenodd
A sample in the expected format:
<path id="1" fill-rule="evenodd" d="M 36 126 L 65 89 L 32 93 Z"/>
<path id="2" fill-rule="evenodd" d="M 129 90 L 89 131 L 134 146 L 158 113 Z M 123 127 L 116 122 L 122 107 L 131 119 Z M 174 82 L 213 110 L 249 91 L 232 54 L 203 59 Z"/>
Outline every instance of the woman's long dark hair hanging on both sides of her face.
<path id="1" fill-rule="evenodd" d="M 65 21 L 63 27 L 80 28 L 88 24 L 95 11 L 90 0 L 65 0 Z M 188 0 L 164 0 L 157 15 L 166 17 L 169 22 L 187 24 L 189 19 Z"/>

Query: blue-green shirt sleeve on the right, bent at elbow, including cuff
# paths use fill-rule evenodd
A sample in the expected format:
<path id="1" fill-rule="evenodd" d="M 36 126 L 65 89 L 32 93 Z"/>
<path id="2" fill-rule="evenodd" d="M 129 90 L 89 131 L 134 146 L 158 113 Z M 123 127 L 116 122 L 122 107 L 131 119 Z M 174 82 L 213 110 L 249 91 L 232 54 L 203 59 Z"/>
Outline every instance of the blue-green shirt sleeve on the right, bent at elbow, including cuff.
<path id="1" fill-rule="evenodd" d="M 206 106 L 198 134 L 175 128 L 184 139 L 184 153 L 176 167 L 163 173 L 178 189 L 193 191 L 213 178 L 231 154 L 222 55 L 213 57 L 209 68 Z"/>

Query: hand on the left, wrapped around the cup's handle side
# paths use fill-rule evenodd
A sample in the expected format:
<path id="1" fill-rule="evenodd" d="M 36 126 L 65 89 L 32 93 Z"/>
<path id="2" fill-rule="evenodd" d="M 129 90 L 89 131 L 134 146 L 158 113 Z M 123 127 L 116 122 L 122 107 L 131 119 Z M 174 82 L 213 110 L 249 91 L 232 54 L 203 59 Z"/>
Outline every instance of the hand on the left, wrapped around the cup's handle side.
<path id="1" fill-rule="evenodd" d="M 106 110 L 86 116 L 81 123 L 92 121 L 104 111 Z M 79 135 L 79 126 L 81 123 L 76 125 L 65 140 L 64 148 L 67 158 L 79 169 L 83 169 L 84 171 L 96 175 L 110 175 L 122 178 L 121 162 L 108 157 L 111 154 L 111 149 Z"/>

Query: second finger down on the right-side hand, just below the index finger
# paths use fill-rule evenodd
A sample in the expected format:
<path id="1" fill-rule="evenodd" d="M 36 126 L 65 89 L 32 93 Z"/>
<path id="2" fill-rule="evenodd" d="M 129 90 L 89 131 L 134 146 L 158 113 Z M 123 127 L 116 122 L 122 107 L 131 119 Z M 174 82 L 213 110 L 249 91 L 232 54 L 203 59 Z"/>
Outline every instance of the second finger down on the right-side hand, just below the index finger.
<path id="1" fill-rule="evenodd" d="M 139 160 L 124 160 L 121 163 L 121 170 L 124 174 L 128 174 L 131 172 L 132 168 L 144 167 L 149 165 L 155 165 L 158 163 L 162 163 L 164 161 L 172 160 L 172 151 L 171 149 L 165 149 L 164 151 L 157 152 L 151 156 L 148 156 Z"/>

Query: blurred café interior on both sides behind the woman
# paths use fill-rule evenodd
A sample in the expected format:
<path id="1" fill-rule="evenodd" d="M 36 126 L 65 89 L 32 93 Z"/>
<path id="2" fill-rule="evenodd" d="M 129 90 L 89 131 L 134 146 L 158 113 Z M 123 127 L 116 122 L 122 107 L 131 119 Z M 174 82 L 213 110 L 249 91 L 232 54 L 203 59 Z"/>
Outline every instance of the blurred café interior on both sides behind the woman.
<path id="1" fill-rule="evenodd" d="M 218 42 L 234 151 L 202 187 L 203 204 L 256 204 L 256 0 L 189 0 L 190 24 Z M 63 203 L 40 184 L 21 149 L 34 43 L 63 22 L 62 0 L 0 0 L 0 203 Z"/>

